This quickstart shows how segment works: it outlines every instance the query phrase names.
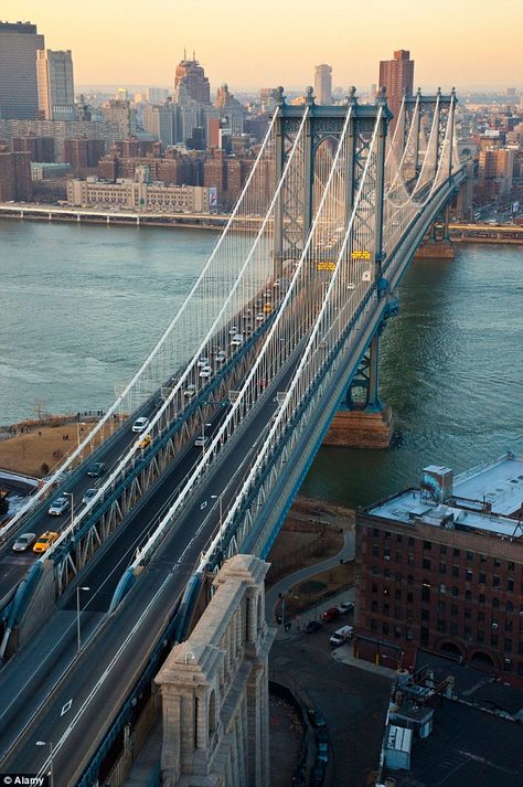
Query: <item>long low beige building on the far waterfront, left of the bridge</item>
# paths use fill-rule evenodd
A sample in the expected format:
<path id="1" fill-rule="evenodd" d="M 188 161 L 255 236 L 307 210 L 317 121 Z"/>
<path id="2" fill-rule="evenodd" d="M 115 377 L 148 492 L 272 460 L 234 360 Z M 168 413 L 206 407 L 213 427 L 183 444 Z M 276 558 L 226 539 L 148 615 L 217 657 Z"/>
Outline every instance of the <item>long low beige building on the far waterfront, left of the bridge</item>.
<path id="1" fill-rule="evenodd" d="M 164 185 L 150 182 L 149 168 L 136 168 L 134 179 L 122 178 L 116 183 L 98 178 L 67 181 L 67 202 L 76 206 L 119 208 L 132 211 L 169 213 L 205 213 L 209 211 L 210 190 L 199 185 Z"/>

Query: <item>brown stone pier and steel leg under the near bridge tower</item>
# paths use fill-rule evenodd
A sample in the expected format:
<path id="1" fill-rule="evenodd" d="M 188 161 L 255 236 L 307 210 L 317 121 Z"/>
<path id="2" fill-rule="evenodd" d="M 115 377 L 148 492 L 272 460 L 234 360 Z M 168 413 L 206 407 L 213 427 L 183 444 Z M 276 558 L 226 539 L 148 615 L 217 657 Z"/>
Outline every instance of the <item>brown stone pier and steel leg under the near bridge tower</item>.
<path id="1" fill-rule="evenodd" d="M 351 382 L 346 407 L 334 415 L 323 445 L 346 448 L 388 448 L 393 433 L 392 410 L 380 400 L 378 366 L 380 339 L 376 333 L 369 353 Z M 363 393 L 356 398 L 356 392 Z"/>

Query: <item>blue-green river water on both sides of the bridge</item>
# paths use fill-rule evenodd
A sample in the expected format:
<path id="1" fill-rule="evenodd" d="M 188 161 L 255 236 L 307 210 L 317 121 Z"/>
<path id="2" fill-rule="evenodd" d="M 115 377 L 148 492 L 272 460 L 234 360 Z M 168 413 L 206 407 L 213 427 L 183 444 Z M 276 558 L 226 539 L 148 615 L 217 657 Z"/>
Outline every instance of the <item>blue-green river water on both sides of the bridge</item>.
<path id="1" fill-rule="evenodd" d="M 172 318 L 216 235 L 0 221 L 0 424 L 107 407 Z M 307 494 L 364 504 L 522 448 L 523 247 L 413 264 L 382 339 L 387 451 L 321 448 Z M 520 439 L 517 439 L 520 438 Z"/>

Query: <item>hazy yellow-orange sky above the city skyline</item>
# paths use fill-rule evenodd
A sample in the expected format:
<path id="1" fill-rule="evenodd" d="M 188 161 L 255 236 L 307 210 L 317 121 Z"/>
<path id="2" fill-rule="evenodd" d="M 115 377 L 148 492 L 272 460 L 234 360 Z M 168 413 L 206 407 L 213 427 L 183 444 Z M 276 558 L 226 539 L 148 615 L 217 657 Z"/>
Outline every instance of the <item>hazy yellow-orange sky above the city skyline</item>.
<path id="1" fill-rule="evenodd" d="M 305 86 L 330 63 L 363 92 L 396 49 L 416 85 L 523 85 L 523 0 L 1 0 L 0 18 L 71 49 L 83 85 L 170 86 L 184 46 L 213 88 Z"/>

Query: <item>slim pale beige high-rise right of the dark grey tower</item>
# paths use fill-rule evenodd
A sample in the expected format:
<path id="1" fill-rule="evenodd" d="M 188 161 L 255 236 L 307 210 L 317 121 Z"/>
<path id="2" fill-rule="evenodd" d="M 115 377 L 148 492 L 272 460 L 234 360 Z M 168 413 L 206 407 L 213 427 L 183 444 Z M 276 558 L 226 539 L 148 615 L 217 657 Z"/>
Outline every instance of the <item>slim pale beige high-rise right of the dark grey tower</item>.
<path id="1" fill-rule="evenodd" d="M 74 79 L 71 50 L 36 52 L 39 109 L 43 120 L 74 120 Z"/>

